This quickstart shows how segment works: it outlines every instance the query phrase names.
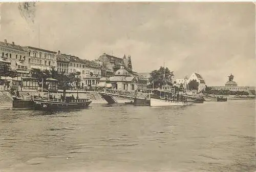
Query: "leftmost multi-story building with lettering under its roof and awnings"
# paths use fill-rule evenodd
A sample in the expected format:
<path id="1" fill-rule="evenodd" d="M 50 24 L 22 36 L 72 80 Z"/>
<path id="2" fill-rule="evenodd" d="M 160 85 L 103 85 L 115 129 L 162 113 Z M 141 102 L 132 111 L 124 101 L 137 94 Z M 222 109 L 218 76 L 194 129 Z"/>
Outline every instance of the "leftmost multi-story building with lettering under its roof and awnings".
<path id="1" fill-rule="evenodd" d="M 4 42 L 0 41 L 0 54 L 1 58 L 10 62 L 11 69 L 16 70 L 19 76 L 29 76 L 29 62 L 28 51 L 23 47 L 8 43 L 5 39 Z"/>

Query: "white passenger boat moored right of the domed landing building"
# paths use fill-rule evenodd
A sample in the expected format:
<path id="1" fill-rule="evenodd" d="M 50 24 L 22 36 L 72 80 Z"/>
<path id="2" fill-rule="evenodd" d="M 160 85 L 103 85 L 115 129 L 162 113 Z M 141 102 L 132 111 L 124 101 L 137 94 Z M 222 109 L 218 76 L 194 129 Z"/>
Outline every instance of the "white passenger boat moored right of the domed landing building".
<path id="1" fill-rule="evenodd" d="M 176 94 L 174 91 L 155 90 L 151 95 L 150 106 L 184 106 L 193 102 L 187 101 L 187 97 Z"/>

